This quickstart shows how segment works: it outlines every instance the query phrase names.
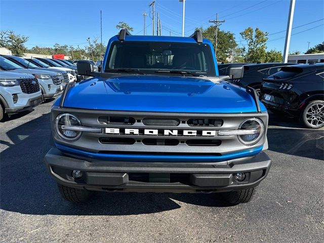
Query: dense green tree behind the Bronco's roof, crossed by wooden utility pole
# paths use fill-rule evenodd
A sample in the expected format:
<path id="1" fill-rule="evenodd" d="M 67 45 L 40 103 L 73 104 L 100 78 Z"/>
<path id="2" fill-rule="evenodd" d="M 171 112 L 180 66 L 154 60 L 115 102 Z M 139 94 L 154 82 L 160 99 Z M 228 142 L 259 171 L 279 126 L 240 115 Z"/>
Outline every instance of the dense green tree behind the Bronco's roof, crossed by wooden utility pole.
<path id="1" fill-rule="evenodd" d="M 207 29 L 203 27 L 196 28 L 201 31 L 204 38 L 209 39 L 213 43 L 215 50 L 215 31 L 216 26 L 209 26 Z M 235 42 L 234 34 L 229 31 L 217 30 L 217 61 L 231 62 L 231 57 L 235 55 L 237 44 Z"/>

